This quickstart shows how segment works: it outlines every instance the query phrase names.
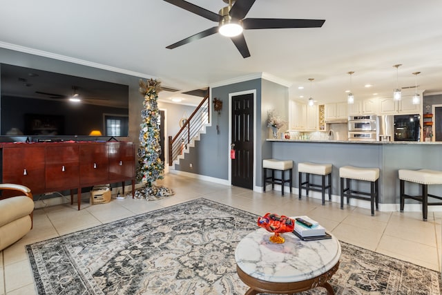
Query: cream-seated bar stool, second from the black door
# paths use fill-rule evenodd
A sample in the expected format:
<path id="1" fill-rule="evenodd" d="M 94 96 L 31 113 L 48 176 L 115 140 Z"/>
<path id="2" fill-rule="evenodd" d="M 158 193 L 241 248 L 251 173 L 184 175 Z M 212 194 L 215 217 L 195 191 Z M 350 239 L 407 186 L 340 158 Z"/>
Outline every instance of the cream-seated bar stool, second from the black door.
<path id="1" fill-rule="evenodd" d="M 310 162 L 298 164 L 299 200 L 301 199 L 302 189 L 305 189 L 307 197 L 309 196 L 309 191 L 320 191 L 323 194 L 323 204 L 325 204 L 325 190 L 328 189 L 329 200 L 332 200 L 332 166 L 332 164 L 316 164 Z M 305 173 L 305 182 L 302 182 L 302 173 Z M 321 175 L 322 183 L 311 183 L 310 174 Z M 328 175 L 328 185 L 325 185 L 326 175 Z"/>

